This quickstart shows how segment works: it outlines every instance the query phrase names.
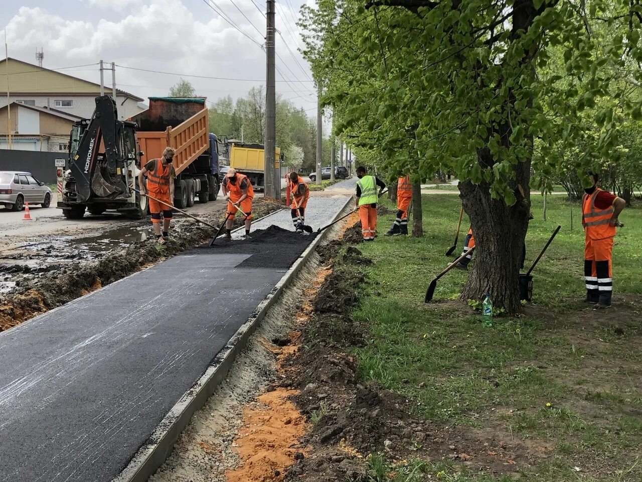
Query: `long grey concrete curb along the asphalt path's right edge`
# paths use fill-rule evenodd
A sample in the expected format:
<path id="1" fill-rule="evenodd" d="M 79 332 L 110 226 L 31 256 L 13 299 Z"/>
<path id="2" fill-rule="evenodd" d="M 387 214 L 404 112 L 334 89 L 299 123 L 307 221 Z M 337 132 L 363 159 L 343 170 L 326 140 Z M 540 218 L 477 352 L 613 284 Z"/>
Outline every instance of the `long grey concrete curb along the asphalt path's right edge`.
<path id="1" fill-rule="evenodd" d="M 333 220 L 342 215 L 351 200 L 351 197 L 346 199 L 345 204 L 343 204 L 343 207 L 334 216 Z M 275 211 L 275 213 L 277 212 L 279 211 Z M 270 213 L 270 215 L 261 219 L 265 219 L 275 213 Z M 238 229 L 235 231 L 238 231 Z M 169 410 L 169 413 L 160 421 L 150 438 L 138 449 L 125 469 L 116 478 L 112 479 L 112 482 L 146 482 L 164 463 L 173 451 L 178 436 L 189 424 L 194 413 L 205 405 L 207 399 L 213 395 L 216 388 L 225 380 L 237 355 L 247 346 L 250 335 L 254 333 L 259 323 L 263 321 L 266 313 L 279 299 L 283 290 L 290 285 L 290 282 L 301 271 L 311 254 L 325 238 L 327 232 L 325 230 L 318 235 L 306 250 L 301 253 L 299 259 L 293 263 L 277 285 L 270 291 L 270 294 L 254 310 L 252 316 L 243 323 L 225 347 L 214 357 L 202 377 Z"/>

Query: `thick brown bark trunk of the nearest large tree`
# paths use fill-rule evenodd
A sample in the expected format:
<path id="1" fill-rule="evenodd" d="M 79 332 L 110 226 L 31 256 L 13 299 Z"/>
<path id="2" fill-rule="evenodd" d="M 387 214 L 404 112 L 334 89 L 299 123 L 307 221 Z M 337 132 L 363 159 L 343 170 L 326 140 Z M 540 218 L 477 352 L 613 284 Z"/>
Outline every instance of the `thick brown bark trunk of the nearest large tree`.
<path id="1" fill-rule="evenodd" d="M 489 152 L 478 153 L 482 165 L 492 165 Z M 512 184 L 528 188 L 530 162 L 515 166 L 516 179 Z M 517 193 L 517 202 L 507 206 L 504 201 L 490 199 L 489 185 L 482 182 L 476 186 L 470 181 L 460 183 L 460 197 L 464 210 L 471 220 L 475 238 L 474 264 L 460 299 L 481 301 L 490 294 L 493 306 L 516 313 L 519 302 L 519 269 L 528 229 L 528 206 L 530 190 L 525 189 L 526 199 Z"/>

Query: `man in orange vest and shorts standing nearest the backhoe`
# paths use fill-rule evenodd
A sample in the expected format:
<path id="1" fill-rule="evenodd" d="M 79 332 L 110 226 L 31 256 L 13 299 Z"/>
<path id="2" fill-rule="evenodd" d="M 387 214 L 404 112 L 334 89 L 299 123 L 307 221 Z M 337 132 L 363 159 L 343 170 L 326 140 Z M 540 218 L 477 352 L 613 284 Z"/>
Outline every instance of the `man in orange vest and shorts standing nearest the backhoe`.
<path id="1" fill-rule="evenodd" d="M 141 188 L 141 193 L 149 192 L 152 197 L 169 205 L 162 204 L 152 197 L 149 198 L 152 226 L 159 244 L 165 244 L 169 239 L 171 206 L 174 205 L 174 179 L 176 179 L 174 166 L 171 165 L 174 154 L 173 148 L 166 147 L 160 159 L 148 161 L 138 173 L 138 185 Z M 147 187 L 145 187 L 144 175 L 147 175 Z M 162 233 L 160 232 L 160 211 L 163 215 Z"/>

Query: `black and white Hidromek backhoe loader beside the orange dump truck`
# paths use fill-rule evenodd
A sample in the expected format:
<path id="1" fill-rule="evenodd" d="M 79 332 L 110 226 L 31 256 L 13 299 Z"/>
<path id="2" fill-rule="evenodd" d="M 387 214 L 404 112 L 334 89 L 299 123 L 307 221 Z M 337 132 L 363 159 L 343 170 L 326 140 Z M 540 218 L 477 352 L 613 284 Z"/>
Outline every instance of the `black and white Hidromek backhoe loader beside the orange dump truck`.
<path id="1" fill-rule="evenodd" d="M 147 198 L 136 192 L 143 156 L 136 129 L 135 122 L 118 120 L 116 102 L 108 95 L 96 97 L 91 120 L 74 123 L 69 157 L 64 166 L 56 166 L 58 208 L 67 219 L 80 219 L 86 210 L 94 215 L 116 210 L 131 219 L 146 216 Z"/>

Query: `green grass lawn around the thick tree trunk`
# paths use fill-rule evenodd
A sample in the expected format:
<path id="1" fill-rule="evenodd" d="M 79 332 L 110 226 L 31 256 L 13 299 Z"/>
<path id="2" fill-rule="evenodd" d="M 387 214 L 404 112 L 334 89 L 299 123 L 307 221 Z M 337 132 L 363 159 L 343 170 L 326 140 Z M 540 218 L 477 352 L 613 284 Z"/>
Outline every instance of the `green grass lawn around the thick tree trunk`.
<path id="1" fill-rule="evenodd" d="M 359 245 L 374 260 L 347 267 L 365 273 L 352 312 L 370 326 L 369 343 L 354 350 L 360 377 L 413 397 L 417 414 L 429 420 L 520 444 L 537 460 L 520 469 L 520 480 L 639 482 L 642 207 L 626 208 L 620 217 L 625 228 L 614 246 L 614 306 L 596 312 L 578 302 L 586 294 L 579 204 L 549 197 L 544 222 L 541 196 L 532 201 L 527 268 L 553 229 L 562 229 L 533 272 L 534 300 L 525 314 L 495 317 L 489 328 L 478 312 L 453 301 L 465 272 L 446 274 L 438 281 L 436 302 L 423 302 L 429 281 L 449 262 L 444 253 L 455 237 L 457 197 L 422 197 L 422 239 L 380 235 Z M 380 216 L 379 233 L 392 220 Z M 456 253 L 467 229 L 464 219 Z M 413 463 L 433 479 L 508 480 L 469 474 L 455 462 Z"/>

